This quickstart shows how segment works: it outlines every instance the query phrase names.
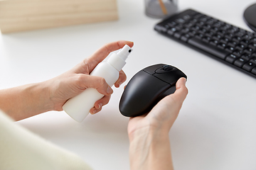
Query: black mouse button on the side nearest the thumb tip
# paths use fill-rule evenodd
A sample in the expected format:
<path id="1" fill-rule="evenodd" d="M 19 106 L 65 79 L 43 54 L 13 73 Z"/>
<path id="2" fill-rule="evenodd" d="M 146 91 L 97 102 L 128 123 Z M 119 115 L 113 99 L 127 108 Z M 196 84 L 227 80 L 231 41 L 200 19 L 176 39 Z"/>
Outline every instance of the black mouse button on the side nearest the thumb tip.
<path id="1" fill-rule="evenodd" d="M 166 72 L 166 74 L 154 74 L 154 76 L 161 79 L 162 81 L 171 84 L 171 86 L 176 84 L 178 79 L 180 79 L 181 77 L 187 78 L 186 74 L 181 72 L 179 69 L 176 69 L 173 72 Z"/>

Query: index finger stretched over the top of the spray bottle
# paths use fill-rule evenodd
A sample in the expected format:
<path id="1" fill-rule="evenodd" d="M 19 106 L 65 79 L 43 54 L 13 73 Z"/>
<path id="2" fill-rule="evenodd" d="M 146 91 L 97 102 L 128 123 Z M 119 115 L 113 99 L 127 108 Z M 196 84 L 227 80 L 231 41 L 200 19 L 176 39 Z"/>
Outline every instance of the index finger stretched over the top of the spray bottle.
<path id="1" fill-rule="evenodd" d="M 102 62 L 102 60 L 104 60 L 107 55 L 110 54 L 110 52 L 119 50 L 120 48 L 124 47 L 124 45 L 129 45 L 129 47 L 132 47 L 133 44 L 133 42 L 126 40 L 107 43 L 97 50 L 91 57 L 87 58 L 87 63 L 90 63 L 90 72 L 97 66 L 97 64 Z"/>

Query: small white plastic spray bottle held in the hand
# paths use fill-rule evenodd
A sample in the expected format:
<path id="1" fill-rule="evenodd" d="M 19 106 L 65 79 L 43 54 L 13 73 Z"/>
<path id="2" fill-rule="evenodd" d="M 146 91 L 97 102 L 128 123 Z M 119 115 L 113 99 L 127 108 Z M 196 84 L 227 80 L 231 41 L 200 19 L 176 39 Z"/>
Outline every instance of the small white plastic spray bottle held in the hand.
<path id="1" fill-rule="evenodd" d="M 125 60 L 132 52 L 132 48 L 124 45 L 122 50 L 117 54 L 113 53 L 107 62 L 100 62 L 90 73 L 91 76 L 103 77 L 107 84 L 113 86 L 119 78 L 119 71 L 126 64 Z M 82 122 L 90 113 L 90 109 L 94 107 L 96 101 L 100 100 L 104 95 L 100 94 L 96 89 L 87 88 L 78 96 L 70 98 L 64 105 L 63 110 L 68 113 L 71 118 L 78 122 Z"/>

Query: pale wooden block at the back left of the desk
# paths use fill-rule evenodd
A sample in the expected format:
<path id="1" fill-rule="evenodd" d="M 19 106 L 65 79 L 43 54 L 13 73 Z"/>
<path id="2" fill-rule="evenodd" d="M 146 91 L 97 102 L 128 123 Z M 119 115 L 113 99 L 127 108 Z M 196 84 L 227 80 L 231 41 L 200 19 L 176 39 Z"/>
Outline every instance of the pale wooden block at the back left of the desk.
<path id="1" fill-rule="evenodd" d="M 1 33 L 117 19 L 116 0 L 0 0 Z"/>

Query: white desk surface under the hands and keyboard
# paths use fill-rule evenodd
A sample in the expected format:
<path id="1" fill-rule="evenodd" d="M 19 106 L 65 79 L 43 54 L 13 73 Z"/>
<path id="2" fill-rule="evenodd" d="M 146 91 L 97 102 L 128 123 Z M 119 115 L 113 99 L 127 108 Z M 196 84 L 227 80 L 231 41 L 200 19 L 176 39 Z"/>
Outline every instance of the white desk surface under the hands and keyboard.
<path id="1" fill-rule="evenodd" d="M 169 134 L 175 169 L 256 169 L 256 79 L 154 31 L 159 19 L 144 15 L 144 1 L 119 0 L 119 20 L 0 34 L 0 89 L 44 81 L 115 40 L 134 41 L 124 72 L 128 80 L 151 64 L 172 64 L 188 76 L 189 94 Z M 242 13 L 255 0 L 180 0 L 250 30 Z M 76 123 L 51 111 L 18 122 L 75 152 L 94 169 L 129 169 L 128 118 L 119 113 L 122 89 L 97 115 Z"/>

